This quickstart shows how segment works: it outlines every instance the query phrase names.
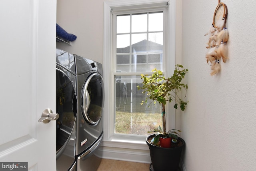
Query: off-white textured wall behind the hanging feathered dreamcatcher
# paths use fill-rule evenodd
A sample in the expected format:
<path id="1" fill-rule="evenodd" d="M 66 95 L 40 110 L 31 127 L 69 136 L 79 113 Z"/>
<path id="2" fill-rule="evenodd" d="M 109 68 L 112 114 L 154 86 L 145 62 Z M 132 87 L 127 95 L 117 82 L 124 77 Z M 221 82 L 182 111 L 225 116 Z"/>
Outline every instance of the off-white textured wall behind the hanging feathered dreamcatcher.
<path id="1" fill-rule="evenodd" d="M 188 107 L 182 113 L 186 171 L 252 171 L 256 167 L 256 1 L 228 6 L 229 58 L 210 76 L 206 34 L 218 0 L 182 1 L 182 64 Z"/>

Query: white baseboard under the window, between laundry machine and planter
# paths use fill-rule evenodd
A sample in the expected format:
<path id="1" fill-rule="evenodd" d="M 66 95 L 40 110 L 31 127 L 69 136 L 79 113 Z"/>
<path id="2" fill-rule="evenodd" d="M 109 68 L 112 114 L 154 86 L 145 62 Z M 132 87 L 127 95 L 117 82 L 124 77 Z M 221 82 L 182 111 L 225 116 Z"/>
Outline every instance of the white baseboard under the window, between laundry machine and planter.
<path id="1" fill-rule="evenodd" d="M 102 150 L 103 159 L 132 161 L 138 163 L 150 163 L 149 150 L 124 149 L 115 147 L 99 147 Z"/>

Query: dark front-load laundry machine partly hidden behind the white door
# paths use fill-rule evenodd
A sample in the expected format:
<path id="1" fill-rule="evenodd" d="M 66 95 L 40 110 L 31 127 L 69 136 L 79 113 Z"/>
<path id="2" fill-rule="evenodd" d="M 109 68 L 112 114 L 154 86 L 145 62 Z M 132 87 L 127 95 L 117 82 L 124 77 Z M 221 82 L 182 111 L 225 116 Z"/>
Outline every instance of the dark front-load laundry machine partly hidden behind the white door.
<path id="1" fill-rule="evenodd" d="M 74 55 L 56 49 L 57 171 L 76 171 L 76 70 Z"/>

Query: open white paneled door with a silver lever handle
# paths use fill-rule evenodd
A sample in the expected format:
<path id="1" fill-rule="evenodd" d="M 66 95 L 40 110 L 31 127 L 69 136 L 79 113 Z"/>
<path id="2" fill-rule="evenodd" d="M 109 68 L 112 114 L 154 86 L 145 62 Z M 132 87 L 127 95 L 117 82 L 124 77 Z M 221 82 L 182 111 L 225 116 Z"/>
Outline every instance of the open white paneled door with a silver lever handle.
<path id="1" fill-rule="evenodd" d="M 1 0 L 0 31 L 0 162 L 54 171 L 56 121 L 38 119 L 55 112 L 56 0 Z"/>

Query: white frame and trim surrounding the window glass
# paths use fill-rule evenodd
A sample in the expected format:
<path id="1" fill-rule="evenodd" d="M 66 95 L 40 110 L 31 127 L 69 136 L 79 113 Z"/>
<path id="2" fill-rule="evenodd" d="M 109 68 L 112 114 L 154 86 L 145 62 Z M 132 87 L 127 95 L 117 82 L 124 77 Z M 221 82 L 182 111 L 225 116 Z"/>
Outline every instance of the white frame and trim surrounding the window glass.
<path id="1" fill-rule="evenodd" d="M 176 0 L 111 0 L 104 2 L 104 43 L 103 43 L 103 72 L 104 72 L 104 87 L 105 87 L 105 102 L 104 102 L 104 146 L 107 147 L 120 147 L 120 148 L 132 148 L 132 149 L 145 149 L 148 150 L 148 147 L 145 142 L 145 136 L 142 135 L 116 135 L 114 134 L 114 85 L 112 83 L 113 74 L 112 67 L 116 65 L 113 63 L 113 47 L 112 47 L 112 38 L 113 38 L 113 22 L 112 22 L 112 12 L 111 10 L 126 8 L 134 8 L 134 6 L 150 8 L 150 6 L 157 6 L 160 3 L 168 3 L 168 21 L 166 37 L 168 41 L 166 43 L 166 60 L 164 62 L 163 68 L 166 69 L 167 76 L 172 74 L 175 66 L 175 43 L 176 43 Z M 168 66 L 168 67 L 167 67 Z M 168 115 L 167 118 L 167 127 L 175 127 L 175 110 L 173 107 L 166 106 L 166 111 L 172 113 Z M 145 130 L 147 131 L 147 130 Z"/>

